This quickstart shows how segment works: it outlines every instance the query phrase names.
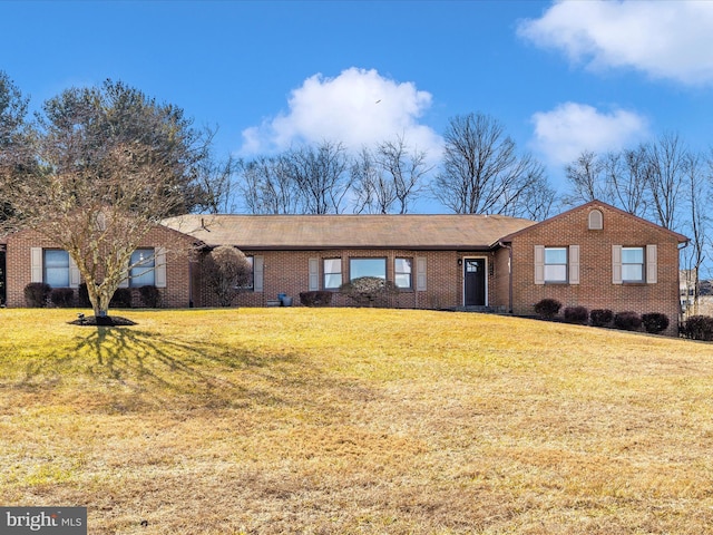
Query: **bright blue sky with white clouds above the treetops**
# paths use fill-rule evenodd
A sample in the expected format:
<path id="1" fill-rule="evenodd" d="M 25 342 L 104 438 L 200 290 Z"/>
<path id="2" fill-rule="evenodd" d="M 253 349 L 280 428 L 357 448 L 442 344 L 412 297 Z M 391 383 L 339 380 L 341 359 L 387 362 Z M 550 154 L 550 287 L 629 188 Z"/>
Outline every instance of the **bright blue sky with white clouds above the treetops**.
<path id="1" fill-rule="evenodd" d="M 223 154 L 401 134 L 437 158 L 481 111 L 563 187 L 583 149 L 713 145 L 709 1 L 2 1 L 0 21 L 35 109 L 121 80 L 219 126 Z"/>

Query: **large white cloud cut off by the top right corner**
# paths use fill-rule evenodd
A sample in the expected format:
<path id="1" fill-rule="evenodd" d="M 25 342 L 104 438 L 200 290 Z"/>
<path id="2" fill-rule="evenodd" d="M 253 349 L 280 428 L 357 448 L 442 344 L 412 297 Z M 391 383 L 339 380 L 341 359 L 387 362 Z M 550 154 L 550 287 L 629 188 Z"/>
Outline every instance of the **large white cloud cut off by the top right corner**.
<path id="1" fill-rule="evenodd" d="M 713 82 L 713 2 L 558 2 L 518 35 L 594 69 L 634 68 L 683 84 Z"/>

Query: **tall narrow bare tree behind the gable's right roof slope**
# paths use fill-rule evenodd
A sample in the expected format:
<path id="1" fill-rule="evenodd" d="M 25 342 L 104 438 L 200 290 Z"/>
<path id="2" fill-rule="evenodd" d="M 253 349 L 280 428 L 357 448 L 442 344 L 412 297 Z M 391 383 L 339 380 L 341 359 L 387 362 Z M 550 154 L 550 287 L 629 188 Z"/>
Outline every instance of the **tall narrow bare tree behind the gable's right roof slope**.
<path id="1" fill-rule="evenodd" d="M 646 146 L 646 183 L 658 224 L 673 230 L 683 189 L 686 150 L 677 134 L 664 134 Z"/>

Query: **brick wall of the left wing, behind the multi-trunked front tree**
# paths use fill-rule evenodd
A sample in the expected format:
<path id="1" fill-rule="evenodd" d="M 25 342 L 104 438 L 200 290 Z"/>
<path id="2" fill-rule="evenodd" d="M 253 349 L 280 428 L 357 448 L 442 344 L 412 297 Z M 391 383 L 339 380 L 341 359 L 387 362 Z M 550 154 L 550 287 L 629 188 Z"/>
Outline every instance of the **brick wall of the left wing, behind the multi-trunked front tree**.
<path id="1" fill-rule="evenodd" d="M 59 249 L 52 241 L 35 231 L 21 231 L 8 236 L 7 251 L 7 305 L 27 307 L 25 286 L 32 281 L 32 249 Z M 152 230 L 138 249 L 162 247 L 166 251 L 166 286 L 159 288 L 162 305 L 188 307 L 191 302 L 191 243 L 187 236 L 168 228 Z M 84 282 L 84 280 L 81 281 Z M 75 291 L 75 295 L 77 291 Z M 133 302 L 140 307 L 138 290 Z"/>

